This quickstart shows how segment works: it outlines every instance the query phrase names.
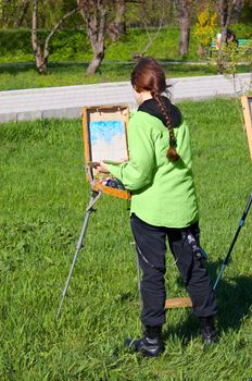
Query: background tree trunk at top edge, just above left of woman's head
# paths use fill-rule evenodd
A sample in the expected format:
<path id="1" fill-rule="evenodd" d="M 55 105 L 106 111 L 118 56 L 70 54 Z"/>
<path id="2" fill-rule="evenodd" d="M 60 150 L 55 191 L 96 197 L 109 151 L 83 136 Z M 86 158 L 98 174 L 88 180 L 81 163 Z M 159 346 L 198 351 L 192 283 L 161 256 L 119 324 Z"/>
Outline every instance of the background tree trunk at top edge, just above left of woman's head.
<path id="1" fill-rule="evenodd" d="M 125 24 L 125 0 L 114 0 L 115 20 L 109 24 L 108 32 L 111 40 L 115 42 L 126 32 Z"/>

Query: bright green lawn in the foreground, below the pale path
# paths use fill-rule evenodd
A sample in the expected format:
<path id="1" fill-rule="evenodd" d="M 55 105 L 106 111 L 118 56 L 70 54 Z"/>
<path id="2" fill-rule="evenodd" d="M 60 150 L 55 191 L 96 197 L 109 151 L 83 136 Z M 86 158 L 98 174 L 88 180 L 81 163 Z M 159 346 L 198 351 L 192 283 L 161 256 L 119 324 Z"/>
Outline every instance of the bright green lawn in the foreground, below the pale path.
<path id="1" fill-rule="evenodd" d="M 251 192 L 252 167 L 236 100 L 180 105 L 190 124 L 202 246 L 215 278 Z M 102 196 L 61 318 L 61 292 L 89 193 L 80 121 L 1 124 L 0 379 L 2 381 L 249 380 L 252 377 L 252 211 L 217 290 L 220 341 L 201 344 L 190 309 L 167 312 L 165 353 L 124 347 L 140 334 L 127 204 Z M 186 295 L 171 255 L 168 297 Z"/>

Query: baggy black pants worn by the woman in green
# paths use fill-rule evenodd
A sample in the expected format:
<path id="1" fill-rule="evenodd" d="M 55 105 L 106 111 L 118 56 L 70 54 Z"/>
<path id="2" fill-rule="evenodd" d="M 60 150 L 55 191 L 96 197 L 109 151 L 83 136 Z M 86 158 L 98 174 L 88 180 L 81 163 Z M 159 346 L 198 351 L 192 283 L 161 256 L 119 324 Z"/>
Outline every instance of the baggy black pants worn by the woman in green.
<path id="1" fill-rule="evenodd" d="M 185 229 L 153 226 L 136 214 L 131 214 L 130 222 L 139 266 L 142 270 L 140 284 L 143 304 L 142 323 L 154 327 L 165 322 L 166 237 L 178 270 L 185 280 L 194 314 L 198 317 L 215 315 L 217 306 L 207 271 L 202 260 L 197 259 L 192 253 L 192 247 L 185 239 L 184 234 L 185 230 L 189 230 L 199 243 L 199 224 L 193 223 Z"/>

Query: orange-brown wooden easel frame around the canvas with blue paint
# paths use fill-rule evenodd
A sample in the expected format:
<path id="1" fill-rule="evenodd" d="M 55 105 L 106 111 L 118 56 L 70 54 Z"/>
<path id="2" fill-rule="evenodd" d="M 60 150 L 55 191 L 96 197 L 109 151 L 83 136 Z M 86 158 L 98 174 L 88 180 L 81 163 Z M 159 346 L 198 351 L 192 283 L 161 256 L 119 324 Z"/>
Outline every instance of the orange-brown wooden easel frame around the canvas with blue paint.
<path id="1" fill-rule="evenodd" d="M 92 152 L 91 152 L 91 144 L 90 144 L 90 132 L 89 132 L 89 123 L 94 113 L 99 113 L 99 115 L 104 115 L 108 118 L 108 113 L 114 113 L 116 120 L 121 120 L 125 125 L 125 135 L 126 135 L 126 144 L 127 144 L 127 127 L 129 121 L 129 108 L 126 105 L 121 106 L 96 106 L 96 107 L 84 107 L 83 108 L 83 137 L 84 137 L 84 152 L 85 152 L 85 167 L 89 165 L 92 161 Z M 121 115 L 121 118 L 119 118 Z M 109 120 L 109 119 L 105 119 Z M 90 168 L 91 174 L 93 175 L 92 168 Z M 87 172 L 87 171 L 86 171 Z M 91 183 L 91 179 L 87 172 L 87 180 Z M 92 183 L 92 190 L 99 192 L 101 190 L 103 194 L 111 195 L 113 197 L 130 199 L 130 193 L 123 189 L 113 188 L 111 186 L 101 185 L 98 181 Z"/>

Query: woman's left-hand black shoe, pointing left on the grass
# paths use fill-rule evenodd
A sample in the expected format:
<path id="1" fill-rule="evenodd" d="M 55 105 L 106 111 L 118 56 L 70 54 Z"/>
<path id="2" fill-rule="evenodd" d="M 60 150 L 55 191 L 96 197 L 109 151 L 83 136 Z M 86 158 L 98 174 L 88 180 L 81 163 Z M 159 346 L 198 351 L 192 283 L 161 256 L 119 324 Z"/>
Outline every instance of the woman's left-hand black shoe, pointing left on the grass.
<path id="1" fill-rule="evenodd" d="M 126 339 L 125 344 L 134 352 L 141 353 L 148 357 L 158 357 L 164 352 L 161 339 L 161 327 L 146 327 L 144 336 L 139 340 Z"/>

